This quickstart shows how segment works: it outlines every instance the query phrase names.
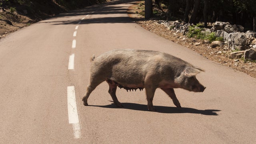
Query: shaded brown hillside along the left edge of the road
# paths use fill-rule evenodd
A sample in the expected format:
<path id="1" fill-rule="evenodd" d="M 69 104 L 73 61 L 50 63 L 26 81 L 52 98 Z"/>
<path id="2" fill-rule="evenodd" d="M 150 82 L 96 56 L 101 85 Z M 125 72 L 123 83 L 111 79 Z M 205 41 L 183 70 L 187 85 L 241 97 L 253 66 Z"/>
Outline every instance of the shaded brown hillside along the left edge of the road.
<path id="1" fill-rule="evenodd" d="M 50 16 L 106 0 L 0 0 L 0 38 Z"/>

